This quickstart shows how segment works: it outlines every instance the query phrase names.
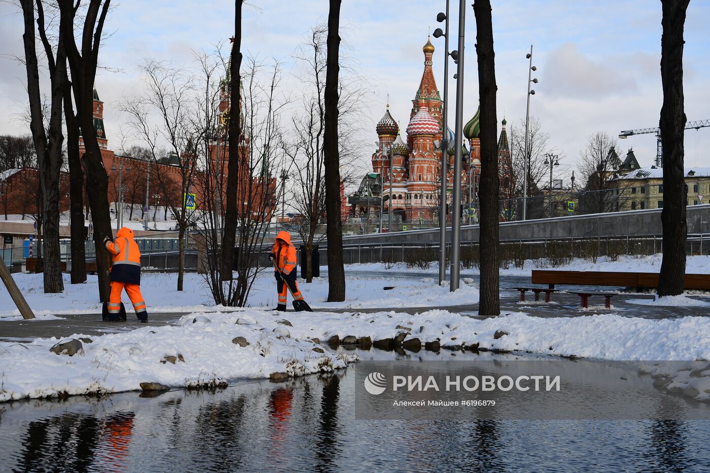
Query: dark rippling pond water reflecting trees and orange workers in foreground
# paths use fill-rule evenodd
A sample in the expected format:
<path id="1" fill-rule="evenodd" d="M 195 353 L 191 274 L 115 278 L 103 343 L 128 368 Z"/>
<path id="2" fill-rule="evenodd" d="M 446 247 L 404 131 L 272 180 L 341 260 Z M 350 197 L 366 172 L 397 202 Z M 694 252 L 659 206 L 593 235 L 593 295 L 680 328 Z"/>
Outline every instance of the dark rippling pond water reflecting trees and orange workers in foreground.
<path id="1" fill-rule="evenodd" d="M 402 357 L 358 351 L 363 359 Z M 512 357 L 457 353 L 457 359 Z M 407 354 L 450 359 L 450 352 Z M 11 471 L 707 471 L 707 421 L 354 420 L 354 375 L 0 404 Z"/>

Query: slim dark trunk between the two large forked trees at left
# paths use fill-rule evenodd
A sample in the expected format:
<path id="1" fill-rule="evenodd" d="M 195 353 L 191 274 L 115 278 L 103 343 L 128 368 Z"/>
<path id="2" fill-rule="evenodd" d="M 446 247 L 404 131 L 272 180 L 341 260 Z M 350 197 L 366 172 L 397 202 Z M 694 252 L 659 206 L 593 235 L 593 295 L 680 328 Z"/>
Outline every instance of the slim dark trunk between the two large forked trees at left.
<path id="1" fill-rule="evenodd" d="M 65 70 L 66 72 L 66 70 Z M 69 162 L 69 214 L 72 246 L 72 284 L 87 281 L 84 244 L 84 170 L 79 161 L 79 123 L 74 115 L 72 85 L 64 82 L 64 117 L 67 122 L 67 161 Z"/>

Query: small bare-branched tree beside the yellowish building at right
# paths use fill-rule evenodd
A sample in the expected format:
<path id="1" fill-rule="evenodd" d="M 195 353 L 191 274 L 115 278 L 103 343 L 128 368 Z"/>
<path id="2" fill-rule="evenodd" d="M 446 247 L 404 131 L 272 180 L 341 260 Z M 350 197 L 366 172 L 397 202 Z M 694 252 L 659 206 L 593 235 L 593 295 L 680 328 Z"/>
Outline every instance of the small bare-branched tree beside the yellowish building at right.
<path id="1" fill-rule="evenodd" d="M 579 212 L 597 214 L 619 210 L 622 195 L 616 177 L 621 161 L 616 147 L 616 139 L 603 131 L 587 138 L 586 148 L 579 153 L 577 163 L 581 180 L 586 183 L 579 196 Z"/>

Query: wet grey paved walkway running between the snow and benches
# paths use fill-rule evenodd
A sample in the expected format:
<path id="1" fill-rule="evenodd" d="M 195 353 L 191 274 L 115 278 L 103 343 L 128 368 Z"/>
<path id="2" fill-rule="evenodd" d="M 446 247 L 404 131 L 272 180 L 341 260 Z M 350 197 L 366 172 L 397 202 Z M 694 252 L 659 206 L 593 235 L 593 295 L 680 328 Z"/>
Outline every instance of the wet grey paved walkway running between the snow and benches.
<path id="1" fill-rule="evenodd" d="M 532 299 L 531 293 L 528 298 Z M 621 294 L 616 295 L 611 300 L 613 312 L 626 317 L 643 317 L 652 319 L 666 319 L 685 317 L 687 315 L 709 315 L 710 308 L 705 307 L 660 307 L 657 305 L 640 305 L 628 303 L 628 300 L 652 299 L 651 295 Z M 590 298 L 590 305 L 595 308 L 591 310 L 581 310 L 579 308 L 579 297 L 574 294 L 555 293 L 552 295 L 552 303 L 519 303 L 520 296 L 517 292 L 503 290 L 501 292 L 501 313 L 526 312 L 535 317 L 579 317 L 582 315 L 592 315 L 595 313 L 608 312 L 603 309 L 603 298 Z M 601 306 L 601 307 L 600 307 Z M 368 308 L 368 309 L 316 309 L 327 312 L 381 312 L 395 311 L 414 314 L 427 310 L 443 309 L 449 312 L 458 312 L 461 315 L 478 317 L 476 314 L 478 304 L 450 305 L 446 307 L 431 306 L 417 308 Z M 224 312 L 224 310 L 222 311 Z M 0 322 L 0 340 L 13 342 L 28 342 L 38 337 L 67 337 L 73 334 L 83 335 L 104 335 L 106 333 L 126 332 L 138 327 L 158 327 L 160 325 L 170 325 L 175 323 L 182 315 L 192 312 L 169 312 L 153 313 L 147 324 L 141 324 L 132 313 L 129 313 L 126 322 L 103 322 L 101 314 L 81 314 L 81 315 L 61 315 L 60 320 L 15 320 Z"/>

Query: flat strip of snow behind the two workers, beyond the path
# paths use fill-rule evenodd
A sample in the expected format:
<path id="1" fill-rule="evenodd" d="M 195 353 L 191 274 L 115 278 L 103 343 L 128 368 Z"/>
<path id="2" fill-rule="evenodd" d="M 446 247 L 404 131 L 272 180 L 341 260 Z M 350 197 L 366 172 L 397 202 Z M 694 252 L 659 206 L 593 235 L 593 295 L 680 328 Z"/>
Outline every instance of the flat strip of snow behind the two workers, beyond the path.
<path id="1" fill-rule="evenodd" d="M 141 293 L 151 312 L 195 312 L 219 310 L 209 293 L 203 276 L 185 273 L 183 290 L 175 290 L 176 273 L 146 273 L 141 275 Z M 86 284 L 70 284 L 69 275 L 64 275 L 65 292 L 61 294 L 43 293 L 41 274 L 13 274 L 18 288 L 25 295 L 27 303 L 39 317 L 56 314 L 80 314 L 101 312 L 97 302 L 97 277 L 89 276 Z M 346 278 L 346 300 L 342 303 L 327 303 L 327 278 L 315 278 L 312 283 L 298 281 L 299 288 L 312 308 L 399 308 L 432 307 L 458 304 L 473 304 L 479 300 L 479 290 L 470 283 L 461 284 L 454 293 L 448 286 L 438 286 L 435 278 L 418 276 L 412 281 L 391 283 L 387 278 L 348 276 Z M 395 286 L 391 290 L 384 287 Z M 273 271 L 264 271 L 256 280 L 249 296 L 251 307 L 275 308 L 278 294 Z M 290 299 L 290 296 L 289 296 Z M 124 303 L 130 308 L 124 293 Z M 224 308 L 222 308 L 224 309 Z M 20 320 L 18 310 L 9 293 L 0 285 L 0 321 Z"/>

